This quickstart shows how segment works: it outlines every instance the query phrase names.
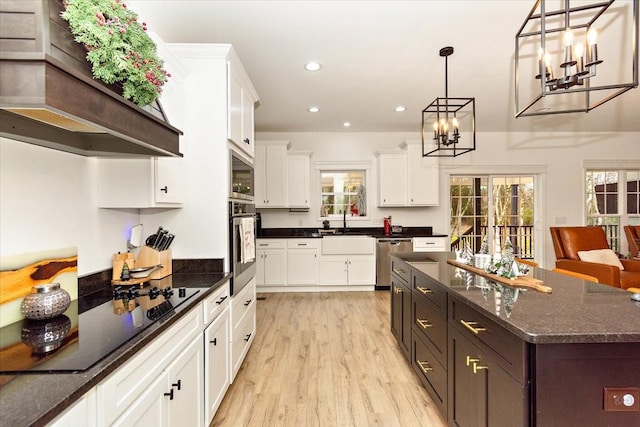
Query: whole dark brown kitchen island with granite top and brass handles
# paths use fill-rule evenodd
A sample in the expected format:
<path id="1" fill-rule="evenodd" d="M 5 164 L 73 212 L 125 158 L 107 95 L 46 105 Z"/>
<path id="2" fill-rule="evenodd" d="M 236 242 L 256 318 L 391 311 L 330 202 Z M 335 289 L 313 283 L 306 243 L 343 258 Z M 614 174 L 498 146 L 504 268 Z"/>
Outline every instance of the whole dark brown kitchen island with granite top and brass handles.
<path id="1" fill-rule="evenodd" d="M 391 329 L 450 425 L 640 425 L 640 303 L 534 268 L 551 294 L 396 253 Z"/>

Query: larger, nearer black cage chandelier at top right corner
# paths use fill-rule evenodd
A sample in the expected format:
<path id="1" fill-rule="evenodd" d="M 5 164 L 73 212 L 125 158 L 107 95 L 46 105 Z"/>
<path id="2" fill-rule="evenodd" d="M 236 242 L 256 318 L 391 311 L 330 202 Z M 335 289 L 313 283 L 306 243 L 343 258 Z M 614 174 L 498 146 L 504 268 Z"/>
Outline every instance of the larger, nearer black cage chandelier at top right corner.
<path id="1" fill-rule="evenodd" d="M 638 87 L 638 0 L 609 9 L 613 2 L 564 0 L 553 11 L 535 2 L 516 34 L 516 117 L 586 113 Z M 602 57 L 597 27 L 607 29 Z M 521 97 L 531 101 L 521 106 Z"/>

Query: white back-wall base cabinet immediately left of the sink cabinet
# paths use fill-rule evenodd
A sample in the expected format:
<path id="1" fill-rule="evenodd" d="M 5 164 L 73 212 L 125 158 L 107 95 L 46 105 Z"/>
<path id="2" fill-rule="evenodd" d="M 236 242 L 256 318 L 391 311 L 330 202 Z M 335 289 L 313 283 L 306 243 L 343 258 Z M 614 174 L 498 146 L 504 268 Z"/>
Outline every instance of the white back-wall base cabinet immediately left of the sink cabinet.
<path id="1" fill-rule="evenodd" d="M 320 239 L 287 240 L 287 285 L 318 285 Z"/>

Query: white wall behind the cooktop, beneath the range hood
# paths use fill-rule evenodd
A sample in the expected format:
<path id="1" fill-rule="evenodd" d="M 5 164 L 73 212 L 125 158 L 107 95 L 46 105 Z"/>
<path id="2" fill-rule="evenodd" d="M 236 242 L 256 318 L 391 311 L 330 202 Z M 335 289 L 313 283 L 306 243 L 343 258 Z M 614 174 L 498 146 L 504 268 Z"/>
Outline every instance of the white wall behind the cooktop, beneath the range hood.
<path id="1" fill-rule="evenodd" d="M 95 159 L 0 138 L 0 256 L 78 248 L 78 275 L 111 267 L 137 210 L 96 206 Z"/>

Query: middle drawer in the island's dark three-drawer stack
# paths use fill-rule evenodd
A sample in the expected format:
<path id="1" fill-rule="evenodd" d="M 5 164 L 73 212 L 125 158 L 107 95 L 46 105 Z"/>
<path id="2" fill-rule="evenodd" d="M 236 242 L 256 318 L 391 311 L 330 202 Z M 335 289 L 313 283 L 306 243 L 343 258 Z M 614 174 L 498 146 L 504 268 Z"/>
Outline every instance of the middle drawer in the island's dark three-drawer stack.
<path id="1" fill-rule="evenodd" d="M 413 296 L 413 330 L 443 365 L 447 363 L 447 317 L 429 300 Z"/>

